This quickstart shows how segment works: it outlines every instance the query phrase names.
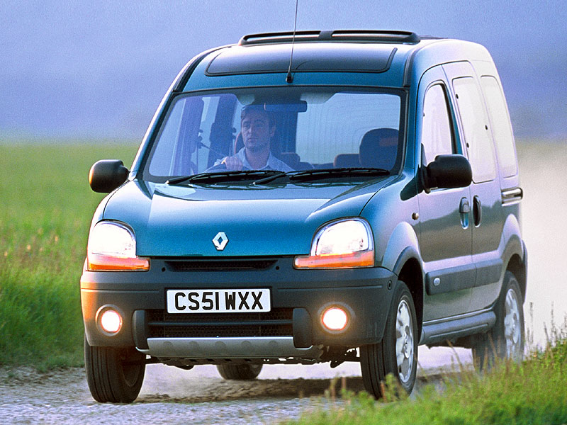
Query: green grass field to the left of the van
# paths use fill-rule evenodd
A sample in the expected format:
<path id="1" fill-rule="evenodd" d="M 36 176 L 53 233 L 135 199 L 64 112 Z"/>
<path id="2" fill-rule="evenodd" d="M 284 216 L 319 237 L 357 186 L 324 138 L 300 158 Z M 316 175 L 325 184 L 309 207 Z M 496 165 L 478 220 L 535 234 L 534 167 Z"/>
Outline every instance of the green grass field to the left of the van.
<path id="1" fill-rule="evenodd" d="M 0 365 L 82 365 L 79 277 L 103 198 L 99 159 L 133 161 L 123 145 L 0 145 Z"/>

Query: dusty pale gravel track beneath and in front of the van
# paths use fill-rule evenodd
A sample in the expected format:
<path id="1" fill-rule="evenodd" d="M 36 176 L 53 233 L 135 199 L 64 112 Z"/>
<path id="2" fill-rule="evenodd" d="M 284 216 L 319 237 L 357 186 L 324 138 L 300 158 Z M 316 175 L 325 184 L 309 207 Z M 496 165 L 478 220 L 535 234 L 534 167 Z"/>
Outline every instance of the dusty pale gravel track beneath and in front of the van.
<path id="1" fill-rule="evenodd" d="M 456 363 L 447 349 L 420 351 L 422 368 L 413 394 L 426 382 L 439 382 L 437 366 Z M 459 360 L 469 361 L 470 351 L 459 351 Z M 47 373 L 0 368 L 0 424 L 270 424 L 340 406 L 342 400 L 325 397 L 333 378 L 337 393 L 342 386 L 363 389 L 357 363 L 336 369 L 328 363 L 267 365 L 253 381 L 223 380 L 208 365 L 193 370 L 148 365 L 133 404 L 99 404 L 91 398 L 82 368 Z"/>

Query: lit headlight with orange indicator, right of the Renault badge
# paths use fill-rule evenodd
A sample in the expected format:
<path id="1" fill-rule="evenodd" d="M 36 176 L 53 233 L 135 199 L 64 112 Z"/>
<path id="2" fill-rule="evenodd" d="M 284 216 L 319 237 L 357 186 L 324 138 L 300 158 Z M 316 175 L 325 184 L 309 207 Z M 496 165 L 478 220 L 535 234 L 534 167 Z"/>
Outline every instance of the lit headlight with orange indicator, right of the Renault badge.
<path id="1" fill-rule="evenodd" d="M 352 268 L 374 266 L 374 242 L 370 225 L 359 218 L 340 220 L 322 227 L 308 256 L 296 256 L 295 268 Z"/>

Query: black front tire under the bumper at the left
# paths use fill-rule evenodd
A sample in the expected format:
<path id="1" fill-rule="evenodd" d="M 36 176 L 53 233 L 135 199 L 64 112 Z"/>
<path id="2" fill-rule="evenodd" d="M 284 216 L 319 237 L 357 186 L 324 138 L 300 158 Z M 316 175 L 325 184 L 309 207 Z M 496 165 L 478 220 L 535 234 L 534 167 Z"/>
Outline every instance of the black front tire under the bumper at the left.
<path id="1" fill-rule="evenodd" d="M 91 347 L 84 339 L 86 382 L 100 403 L 130 403 L 140 394 L 145 354 L 134 347 Z"/>

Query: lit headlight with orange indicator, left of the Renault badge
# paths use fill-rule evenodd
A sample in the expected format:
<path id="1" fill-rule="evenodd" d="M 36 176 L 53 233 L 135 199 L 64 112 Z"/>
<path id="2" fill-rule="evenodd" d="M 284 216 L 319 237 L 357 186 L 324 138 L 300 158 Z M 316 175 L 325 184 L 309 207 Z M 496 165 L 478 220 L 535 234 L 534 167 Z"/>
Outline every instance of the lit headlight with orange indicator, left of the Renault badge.
<path id="1" fill-rule="evenodd" d="M 89 234 L 86 267 L 91 271 L 149 270 L 150 260 L 136 256 L 134 232 L 118 222 L 99 222 Z"/>

